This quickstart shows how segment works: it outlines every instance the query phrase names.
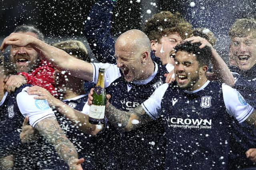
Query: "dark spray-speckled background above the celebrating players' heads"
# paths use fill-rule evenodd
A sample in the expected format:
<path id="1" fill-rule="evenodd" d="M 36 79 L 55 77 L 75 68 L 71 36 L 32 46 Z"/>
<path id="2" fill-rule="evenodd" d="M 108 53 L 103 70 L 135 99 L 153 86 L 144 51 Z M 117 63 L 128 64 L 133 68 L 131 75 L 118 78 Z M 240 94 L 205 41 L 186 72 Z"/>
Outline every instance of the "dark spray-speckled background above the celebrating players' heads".
<path id="1" fill-rule="evenodd" d="M 16 26 L 36 25 L 48 43 L 58 39 L 84 39 L 84 24 L 97 0 L 0 0 L 0 37 Z M 132 2 L 132 3 L 131 3 Z M 217 51 L 228 55 L 228 28 L 237 18 L 255 18 L 256 0 L 118 0 L 112 15 L 112 34 L 117 37 L 128 29 L 142 29 L 146 19 L 162 10 L 180 12 L 194 27 L 214 32 Z M 151 10 L 148 14 L 146 11 Z"/>

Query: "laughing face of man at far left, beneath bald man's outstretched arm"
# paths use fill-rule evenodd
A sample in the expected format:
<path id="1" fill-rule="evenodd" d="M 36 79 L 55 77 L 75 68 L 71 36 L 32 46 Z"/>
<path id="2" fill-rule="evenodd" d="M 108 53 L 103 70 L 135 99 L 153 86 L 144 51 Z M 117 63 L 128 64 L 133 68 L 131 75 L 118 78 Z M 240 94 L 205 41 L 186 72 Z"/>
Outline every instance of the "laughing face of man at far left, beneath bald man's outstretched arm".
<path id="1" fill-rule="evenodd" d="M 32 32 L 18 33 L 31 35 L 37 38 L 37 35 Z M 39 55 L 30 45 L 24 47 L 12 45 L 10 48 L 10 63 L 14 65 L 17 72 L 30 72 L 38 66 Z"/>

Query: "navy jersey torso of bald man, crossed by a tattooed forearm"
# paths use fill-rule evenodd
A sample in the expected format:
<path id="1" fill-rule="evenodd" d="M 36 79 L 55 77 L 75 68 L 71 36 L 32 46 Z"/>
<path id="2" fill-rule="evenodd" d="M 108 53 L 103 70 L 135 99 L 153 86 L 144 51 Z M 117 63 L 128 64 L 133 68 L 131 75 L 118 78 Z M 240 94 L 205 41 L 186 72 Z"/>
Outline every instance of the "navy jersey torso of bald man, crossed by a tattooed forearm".
<path id="1" fill-rule="evenodd" d="M 131 111 L 148 99 L 165 81 L 165 67 L 156 63 L 155 66 L 154 77 L 142 84 L 127 83 L 120 72 L 121 76 L 106 87 L 106 93 L 112 96 L 109 102 L 120 110 Z M 108 153 L 108 156 L 105 156 L 108 159 L 103 166 L 121 169 L 159 168 L 156 167 L 159 163 L 155 161 L 158 155 L 154 155 L 163 135 L 163 129 L 159 127 L 161 123 L 153 121 L 136 130 L 123 132 L 108 122 L 107 130 L 101 135 L 101 142 L 104 143 L 102 154 Z"/>

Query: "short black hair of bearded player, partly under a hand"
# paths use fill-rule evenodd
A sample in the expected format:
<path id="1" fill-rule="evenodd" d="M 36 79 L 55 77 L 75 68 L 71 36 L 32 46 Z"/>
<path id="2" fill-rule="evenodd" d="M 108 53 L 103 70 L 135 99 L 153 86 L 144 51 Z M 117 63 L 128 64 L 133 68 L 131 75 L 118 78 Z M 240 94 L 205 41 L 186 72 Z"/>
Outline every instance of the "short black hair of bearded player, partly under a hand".
<path id="1" fill-rule="evenodd" d="M 204 48 L 200 49 L 199 46 L 201 43 L 191 43 L 190 41 L 187 41 L 185 43 L 182 43 L 180 45 L 177 45 L 174 50 L 177 51 L 185 51 L 187 53 L 192 53 L 196 55 L 196 60 L 198 61 L 200 66 L 209 65 L 210 63 L 210 57 L 212 55 L 211 48 L 208 46 L 205 46 Z M 175 58 L 175 55 L 174 55 Z"/>

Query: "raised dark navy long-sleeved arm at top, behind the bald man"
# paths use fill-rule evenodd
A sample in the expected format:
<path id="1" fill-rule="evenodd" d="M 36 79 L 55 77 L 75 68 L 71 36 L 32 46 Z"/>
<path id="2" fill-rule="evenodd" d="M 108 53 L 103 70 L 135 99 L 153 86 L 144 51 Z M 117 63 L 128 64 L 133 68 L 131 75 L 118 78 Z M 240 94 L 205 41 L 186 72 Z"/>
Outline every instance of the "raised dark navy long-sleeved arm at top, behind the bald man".
<path id="1" fill-rule="evenodd" d="M 114 57 L 115 41 L 111 36 L 111 11 L 116 2 L 113 0 L 99 0 L 91 9 L 86 21 L 86 39 L 92 53 L 99 62 L 116 64 Z"/>

